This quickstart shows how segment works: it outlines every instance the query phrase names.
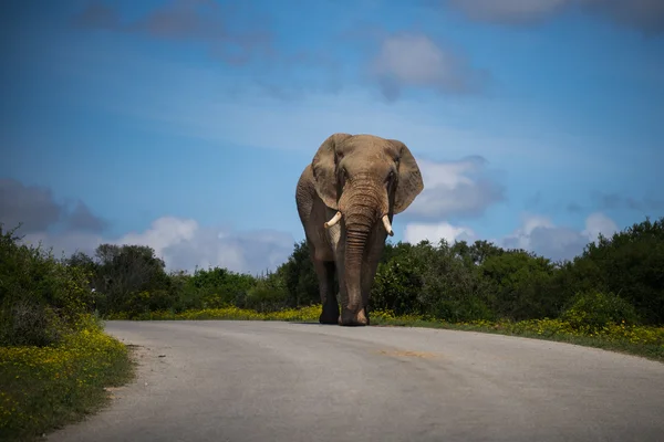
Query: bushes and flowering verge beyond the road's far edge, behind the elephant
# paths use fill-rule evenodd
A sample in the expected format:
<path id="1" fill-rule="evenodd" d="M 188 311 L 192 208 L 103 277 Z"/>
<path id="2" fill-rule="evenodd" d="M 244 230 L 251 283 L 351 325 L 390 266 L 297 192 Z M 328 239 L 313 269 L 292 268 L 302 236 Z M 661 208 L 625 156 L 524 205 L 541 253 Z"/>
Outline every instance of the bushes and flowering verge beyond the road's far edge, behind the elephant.
<path id="1" fill-rule="evenodd" d="M 92 275 L 105 318 L 318 320 L 304 241 L 274 272 L 165 271 L 152 249 L 101 245 L 65 262 Z M 548 338 L 664 360 L 664 218 L 600 235 L 553 262 L 487 241 L 387 243 L 371 298 L 375 325 Z"/>

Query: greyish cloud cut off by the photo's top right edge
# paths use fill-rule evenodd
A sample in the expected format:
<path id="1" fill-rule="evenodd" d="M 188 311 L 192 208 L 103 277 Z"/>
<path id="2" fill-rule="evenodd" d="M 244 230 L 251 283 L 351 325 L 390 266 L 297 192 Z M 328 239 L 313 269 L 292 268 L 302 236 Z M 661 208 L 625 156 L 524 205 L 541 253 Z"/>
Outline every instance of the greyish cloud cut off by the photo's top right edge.
<path id="1" fill-rule="evenodd" d="M 645 33 L 664 31 L 664 2 L 661 0 L 447 0 L 446 3 L 471 20 L 484 22 L 529 24 L 564 11 L 579 10 Z"/>

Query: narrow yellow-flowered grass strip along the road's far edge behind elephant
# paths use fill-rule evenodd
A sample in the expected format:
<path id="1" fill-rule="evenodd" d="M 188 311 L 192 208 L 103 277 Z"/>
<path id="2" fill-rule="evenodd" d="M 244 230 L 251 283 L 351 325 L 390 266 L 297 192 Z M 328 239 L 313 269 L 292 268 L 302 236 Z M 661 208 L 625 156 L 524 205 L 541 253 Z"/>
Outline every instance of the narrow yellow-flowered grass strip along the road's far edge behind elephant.
<path id="1" fill-rule="evenodd" d="M 236 320 L 287 320 L 318 322 L 321 306 L 279 312 L 261 313 L 238 307 L 205 308 L 181 313 L 149 312 L 133 317 L 136 320 L 196 320 L 196 319 L 236 319 Z M 112 315 L 110 319 L 128 319 L 127 315 Z M 605 324 L 603 326 L 572 326 L 561 319 L 531 319 L 521 322 L 476 320 L 449 323 L 442 319 L 417 315 L 395 316 L 391 312 L 372 312 L 372 326 L 428 327 L 454 330 L 468 330 L 547 339 L 561 343 L 595 347 L 605 350 L 645 357 L 664 362 L 664 327 L 644 327 L 635 325 Z"/>

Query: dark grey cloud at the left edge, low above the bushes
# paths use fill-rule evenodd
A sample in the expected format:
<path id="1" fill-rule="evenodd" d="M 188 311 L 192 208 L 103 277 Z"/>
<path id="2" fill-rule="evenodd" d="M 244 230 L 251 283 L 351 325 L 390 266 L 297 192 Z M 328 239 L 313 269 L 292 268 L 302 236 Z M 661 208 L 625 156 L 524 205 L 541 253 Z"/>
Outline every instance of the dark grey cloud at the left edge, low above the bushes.
<path id="1" fill-rule="evenodd" d="M 55 201 L 50 189 L 0 178 L 0 222 L 3 230 L 21 223 L 20 232 L 30 233 L 60 227 L 68 231 L 101 232 L 106 222 L 94 215 L 87 206 L 77 201 L 71 204 Z"/>

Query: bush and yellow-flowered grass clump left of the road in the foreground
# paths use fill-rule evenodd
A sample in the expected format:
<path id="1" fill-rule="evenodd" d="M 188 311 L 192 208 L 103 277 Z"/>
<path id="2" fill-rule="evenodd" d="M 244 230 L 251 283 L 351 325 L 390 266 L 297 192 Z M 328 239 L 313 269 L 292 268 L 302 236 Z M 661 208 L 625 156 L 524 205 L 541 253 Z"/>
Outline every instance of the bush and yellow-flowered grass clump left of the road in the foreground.
<path id="1" fill-rule="evenodd" d="M 0 227 L 0 440 L 32 440 L 131 379 L 127 348 L 90 307 L 90 280 Z"/>

